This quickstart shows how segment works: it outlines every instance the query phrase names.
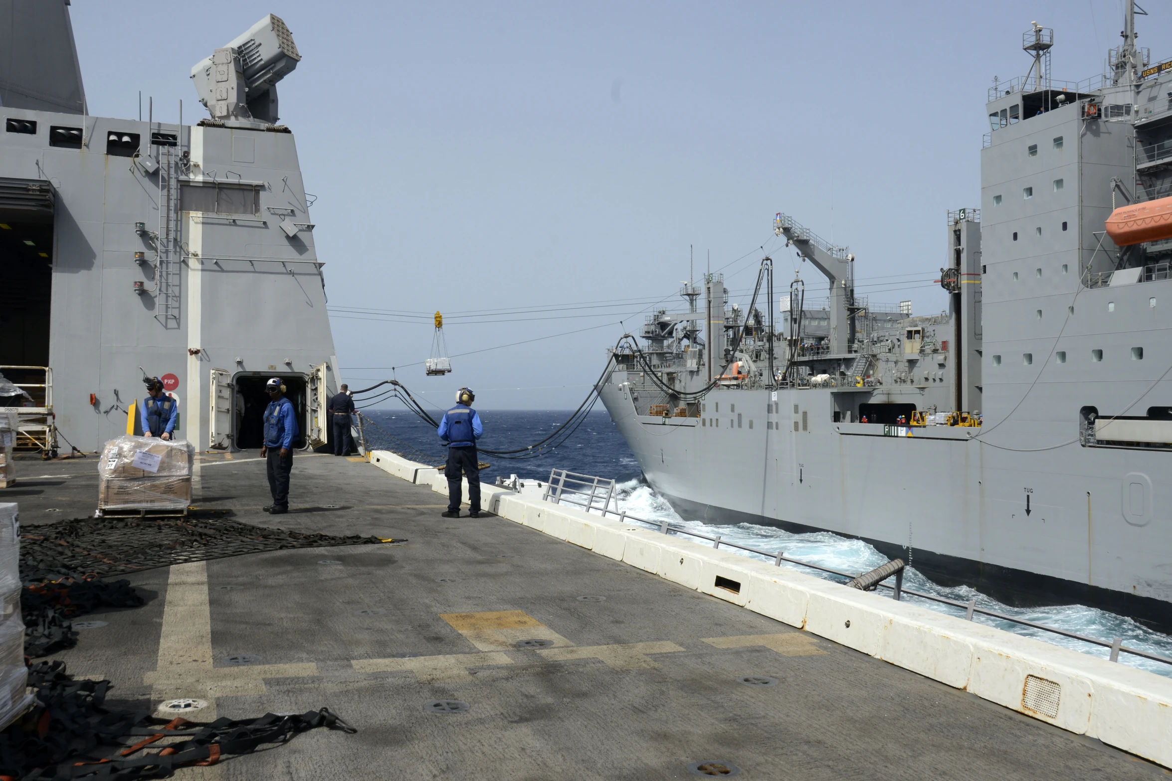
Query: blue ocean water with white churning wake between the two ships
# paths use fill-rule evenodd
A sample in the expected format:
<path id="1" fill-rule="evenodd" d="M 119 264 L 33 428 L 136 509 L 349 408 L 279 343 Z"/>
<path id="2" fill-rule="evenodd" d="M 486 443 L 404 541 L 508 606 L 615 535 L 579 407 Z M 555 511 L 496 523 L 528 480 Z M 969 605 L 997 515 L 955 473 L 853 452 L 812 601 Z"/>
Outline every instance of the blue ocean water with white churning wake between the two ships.
<path id="1" fill-rule="evenodd" d="M 484 437 L 481 439 L 481 446 L 489 450 L 524 447 L 556 431 L 568 416 L 568 411 L 493 412 L 482 410 L 481 418 L 484 422 Z M 367 411 L 367 417 L 374 423 L 374 426 L 367 430 L 368 444 L 372 447 L 386 446 L 388 450 L 401 451 L 408 458 L 414 457 L 417 460 L 424 460 L 422 457 L 430 458 L 435 463 L 443 460 L 444 448 L 435 436 L 435 429 L 407 410 L 370 410 Z M 410 448 L 410 451 L 406 451 L 406 448 Z M 510 474 L 517 474 L 526 479 L 545 480 L 548 479 L 551 468 L 615 479 L 619 481 L 618 502 L 620 511 L 626 511 L 631 515 L 656 523 L 668 520 L 673 526 L 701 534 L 718 534 L 728 542 L 750 546 L 769 552 L 770 554 L 783 550 L 786 556 L 792 559 L 809 561 L 813 564 L 847 573 L 864 573 L 887 561 L 886 556 L 866 542 L 841 537 L 830 532 L 792 534 L 770 526 L 754 523 L 713 526 L 679 515 L 662 496 L 656 494 L 641 479 L 639 463 L 605 411 L 591 412 L 586 422 L 565 445 L 550 451 L 548 454 L 540 458 L 507 460 L 482 455 L 481 460 L 492 464 L 485 472 L 486 482 L 495 481 L 497 475 L 507 478 Z M 748 552 L 731 548 L 730 550 L 750 557 L 765 559 L 764 556 L 755 556 L 755 554 Z M 769 561 L 772 561 L 772 556 L 769 557 Z M 808 575 L 841 581 L 841 578 L 829 573 L 819 573 L 818 570 L 799 564 L 784 562 L 783 566 Z M 905 571 L 904 585 L 915 591 L 958 602 L 967 603 L 969 600 L 976 600 L 977 608 L 995 610 L 1016 618 L 1099 638 L 1109 643 L 1113 638 L 1120 637 L 1124 645 L 1172 658 L 1172 637 L 1154 632 L 1130 618 L 1096 608 L 1078 604 L 1011 608 L 969 587 L 946 588 L 936 585 L 914 568 L 908 568 Z M 886 590 L 880 590 L 879 592 L 890 594 Z M 965 615 L 962 608 L 942 605 L 913 596 L 905 596 L 905 598 L 914 604 L 939 612 L 948 612 L 961 617 Z M 1104 659 L 1110 655 L 1110 649 L 1029 626 L 1022 626 L 1013 622 L 981 615 L 975 615 L 974 621 Z M 1168 664 L 1151 662 L 1129 653 L 1120 653 L 1119 662 L 1172 677 L 1172 665 Z"/>

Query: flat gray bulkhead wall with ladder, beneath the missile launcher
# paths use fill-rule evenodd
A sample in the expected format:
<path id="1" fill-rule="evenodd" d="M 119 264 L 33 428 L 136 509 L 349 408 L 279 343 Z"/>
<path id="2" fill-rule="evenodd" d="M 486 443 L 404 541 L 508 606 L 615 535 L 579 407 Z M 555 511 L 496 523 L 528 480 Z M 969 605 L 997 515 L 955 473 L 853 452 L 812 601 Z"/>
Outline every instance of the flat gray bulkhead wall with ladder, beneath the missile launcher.
<path id="1" fill-rule="evenodd" d="M 39 180 L 55 197 L 48 365 L 56 424 L 70 443 L 93 451 L 125 431 L 125 410 L 144 395 L 138 366 L 178 377 L 180 432 L 200 448 L 210 443 L 213 368 L 308 377 L 327 364 L 336 385 L 325 278 L 289 132 L 22 109 L 4 116 L 35 122 L 36 132 L 0 135 L 0 178 Z M 84 146 L 50 145 L 50 128 L 83 124 Z M 176 145 L 152 144 L 152 132 Z M 137 136 L 141 157 L 107 153 L 111 133 Z M 190 163 L 180 164 L 184 151 Z M 158 171 L 137 162 L 146 157 L 162 160 Z M 183 210 L 180 189 L 217 185 L 254 192 L 255 203 L 247 213 L 239 204 L 225 214 Z M 156 274 L 152 239 L 136 222 L 159 232 L 169 208 L 177 251 L 166 285 L 168 263 Z M 282 220 L 301 227 L 289 237 Z"/>

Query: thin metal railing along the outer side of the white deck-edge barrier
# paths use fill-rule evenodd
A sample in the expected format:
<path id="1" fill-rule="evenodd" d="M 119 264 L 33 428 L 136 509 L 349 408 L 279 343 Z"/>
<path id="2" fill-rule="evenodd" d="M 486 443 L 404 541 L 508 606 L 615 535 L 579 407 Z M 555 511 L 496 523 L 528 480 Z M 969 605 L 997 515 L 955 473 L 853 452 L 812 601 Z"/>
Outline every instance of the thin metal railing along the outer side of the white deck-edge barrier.
<path id="1" fill-rule="evenodd" d="M 721 535 L 718 534 L 717 535 L 704 534 L 703 532 L 694 532 L 691 529 L 683 528 L 682 526 L 673 526 L 672 522 L 668 521 L 667 519 L 661 521 L 649 521 L 647 519 L 632 515 L 627 513 L 627 511 L 625 509 L 620 511 L 608 509 L 613 493 L 607 493 L 606 501 L 601 507 L 595 501 L 595 495 L 598 492 L 594 491 L 588 493 L 590 496 L 588 500 L 586 501 L 575 500 L 574 499 L 575 496 L 585 496 L 587 495 L 587 493 L 581 489 L 568 491 L 568 492 L 561 491 L 560 487 L 558 489 L 554 489 L 553 486 L 554 475 L 559 473 L 561 475 L 572 475 L 574 478 L 574 485 L 581 487 L 592 487 L 592 486 L 600 486 L 604 484 L 609 484 L 611 489 L 613 492 L 614 480 L 604 480 L 601 478 L 595 478 L 588 474 L 573 474 L 570 472 L 565 472 L 563 470 L 553 470 L 553 472 L 550 473 L 550 485 L 546 486 L 545 495 L 543 496 L 545 501 L 573 505 L 577 507 L 581 507 L 587 513 L 591 509 L 601 509 L 601 514 L 604 516 L 606 516 L 606 514 L 609 513 L 611 515 L 616 516 L 620 523 L 643 523 L 646 526 L 652 527 L 653 529 L 656 529 L 661 534 L 687 535 L 691 537 L 697 537 L 700 540 L 707 540 L 711 542 L 713 548 L 717 550 L 720 550 L 722 546 L 725 548 L 735 548 L 737 550 L 744 550 L 745 553 L 751 553 L 758 556 L 764 556 L 765 559 L 771 559 L 776 567 L 781 567 L 783 562 L 789 562 L 791 564 L 798 564 L 799 567 L 808 567 L 810 569 L 816 569 L 820 573 L 826 573 L 829 575 L 845 577 L 847 581 L 852 581 L 856 577 L 859 577 L 860 575 L 865 574 L 865 573 L 854 573 L 854 574 L 844 573 L 840 569 L 833 569 L 831 567 L 823 567 L 822 564 L 815 564 L 809 561 L 802 561 L 800 559 L 793 559 L 791 556 L 786 556 L 785 553 L 782 550 L 777 552 L 762 550 L 759 548 L 754 548 L 751 546 L 741 544 L 740 542 L 729 542 L 727 540 L 721 539 Z M 900 570 L 900 573 L 901 571 L 902 570 Z M 894 577 L 895 574 L 892 574 L 891 577 L 888 577 L 887 580 Z M 969 600 L 968 602 L 960 602 L 959 600 L 949 600 L 948 597 L 941 597 L 934 594 L 925 594 L 924 591 L 915 591 L 904 587 L 902 578 L 897 580 L 897 583 L 894 584 L 888 584 L 886 582 L 883 582 L 878 583 L 877 585 L 891 590 L 893 598 L 897 601 L 900 600 L 904 595 L 909 595 L 913 597 L 919 597 L 920 600 L 928 600 L 929 602 L 936 602 L 939 604 L 947 604 L 952 605 L 953 608 L 959 608 L 965 611 L 965 618 L 968 621 L 973 621 L 973 617 L 976 615 L 988 616 L 990 618 L 996 618 L 999 621 L 1008 621 L 1010 623 L 1018 624 L 1021 626 L 1029 626 L 1030 629 L 1037 629 L 1041 631 L 1051 632 L 1054 635 L 1061 635 L 1062 637 L 1069 637 L 1071 639 L 1082 640 L 1083 643 L 1090 643 L 1091 645 L 1098 645 L 1101 648 L 1110 649 L 1111 662 L 1118 662 L 1119 653 L 1123 652 L 1123 653 L 1131 653 L 1132 656 L 1143 657 L 1144 659 L 1151 659 L 1152 662 L 1160 662 L 1163 664 L 1172 665 L 1172 659 L 1159 656 L 1158 653 L 1150 653 L 1147 651 L 1140 651 L 1139 649 L 1133 649 L 1127 645 L 1124 645 L 1122 638 L 1119 637 L 1112 638 L 1111 642 L 1109 643 L 1097 637 L 1088 637 L 1086 635 L 1079 635 L 1078 632 L 1069 632 L 1064 629 L 1058 629 L 1057 626 L 1048 626 L 1045 624 L 1040 624 L 1034 621 L 1027 621 L 1026 618 L 1018 618 L 1017 616 L 1010 616 L 1008 614 L 999 612 L 996 610 L 980 608 L 976 604 L 976 600 Z"/>

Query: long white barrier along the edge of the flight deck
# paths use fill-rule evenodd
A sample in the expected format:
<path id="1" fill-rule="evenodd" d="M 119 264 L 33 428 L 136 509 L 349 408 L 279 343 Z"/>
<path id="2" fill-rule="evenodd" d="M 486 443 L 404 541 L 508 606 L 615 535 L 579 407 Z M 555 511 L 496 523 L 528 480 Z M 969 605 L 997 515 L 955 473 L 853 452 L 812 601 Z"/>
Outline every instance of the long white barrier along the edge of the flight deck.
<path id="1" fill-rule="evenodd" d="M 372 458 L 414 480 L 422 465 L 400 460 Z M 431 486 L 448 492 L 442 475 Z M 495 486 L 482 494 L 484 507 L 513 522 L 1172 767 L 1172 679 L 539 495 Z"/>

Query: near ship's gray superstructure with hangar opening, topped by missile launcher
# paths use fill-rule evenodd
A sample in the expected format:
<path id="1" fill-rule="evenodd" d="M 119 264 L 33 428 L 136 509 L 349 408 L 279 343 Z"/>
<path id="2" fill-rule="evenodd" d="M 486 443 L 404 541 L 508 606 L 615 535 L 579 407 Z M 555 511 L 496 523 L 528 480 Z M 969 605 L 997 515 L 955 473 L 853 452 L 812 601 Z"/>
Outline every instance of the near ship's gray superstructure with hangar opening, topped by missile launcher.
<path id="1" fill-rule="evenodd" d="M 191 73 L 190 126 L 89 116 L 66 2 L 7 19 L 0 64 L 0 372 L 23 385 L 21 443 L 83 451 L 137 418 L 142 366 L 179 399 L 179 436 L 259 447 L 264 383 L 326 439 L 335 385 L 323 263 L 277 82 L 300 61 L 266 16 Z"/>

